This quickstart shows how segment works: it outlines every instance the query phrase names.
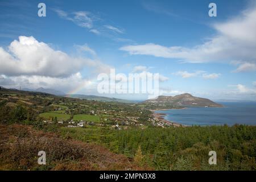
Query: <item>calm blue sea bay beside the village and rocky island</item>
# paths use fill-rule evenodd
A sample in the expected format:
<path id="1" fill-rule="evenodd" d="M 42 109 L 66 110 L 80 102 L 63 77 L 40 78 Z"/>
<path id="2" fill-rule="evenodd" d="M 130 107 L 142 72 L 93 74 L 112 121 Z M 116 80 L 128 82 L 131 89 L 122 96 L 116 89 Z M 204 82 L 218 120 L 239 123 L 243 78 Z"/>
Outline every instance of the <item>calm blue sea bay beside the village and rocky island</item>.
<path id="1" fill-rule="evenodd" d="M 256 125 L 256 102 L 218 102 L 224 107 L 186 107 L 158 110 L 164 119 L 182 125 Z"/>

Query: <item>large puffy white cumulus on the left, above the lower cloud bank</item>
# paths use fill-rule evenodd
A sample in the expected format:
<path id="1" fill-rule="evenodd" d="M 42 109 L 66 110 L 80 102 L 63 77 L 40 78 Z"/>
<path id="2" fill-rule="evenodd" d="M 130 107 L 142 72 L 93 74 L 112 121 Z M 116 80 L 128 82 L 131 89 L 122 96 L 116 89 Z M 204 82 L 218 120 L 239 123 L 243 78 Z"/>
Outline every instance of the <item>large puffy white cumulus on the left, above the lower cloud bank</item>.
<path id="1" fill-rule="evenodd" d="M 109 68 L 97 60 L 55 51 L 32 36 L 19 36 L 19 40 L 11 42 L 7 50 L 0 47 L 0 73 L 6 76 L 68 77 L 85 67 L 93 67 L 99 72 Z"/>

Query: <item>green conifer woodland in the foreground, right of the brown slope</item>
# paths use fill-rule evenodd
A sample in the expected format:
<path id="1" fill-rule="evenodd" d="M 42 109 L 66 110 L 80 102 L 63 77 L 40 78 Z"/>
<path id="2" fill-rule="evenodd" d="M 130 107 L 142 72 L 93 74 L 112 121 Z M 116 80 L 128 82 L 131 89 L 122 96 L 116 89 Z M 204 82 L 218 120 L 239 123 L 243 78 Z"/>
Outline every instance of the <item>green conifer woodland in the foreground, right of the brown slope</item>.
<path id="1" fill-rule="evenodd" d="M 138 166 L 157 170 L 256 169 L 256 126 L 63 130 L 62 135 L 103 144 L 115 153 L 133 157 Z M 217 152 L 217 165 L 208 163 L 212 150 Z"/>

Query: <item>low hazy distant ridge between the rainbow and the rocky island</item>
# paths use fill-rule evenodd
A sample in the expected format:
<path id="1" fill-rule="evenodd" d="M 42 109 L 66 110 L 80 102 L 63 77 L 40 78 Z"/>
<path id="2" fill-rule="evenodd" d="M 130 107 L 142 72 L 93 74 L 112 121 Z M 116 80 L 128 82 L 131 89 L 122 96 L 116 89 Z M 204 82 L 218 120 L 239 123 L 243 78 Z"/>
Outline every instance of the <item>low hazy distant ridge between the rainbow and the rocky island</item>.
<path id="1" fill-rule="evenodd" d="M 71 94 L 66 95 L 65 97 L 80 98 L 89 101 L 101 101 L 101 102 L 122 102 L 122 103 L 136 103 L 137 101 L 124 100 L 120 98 L 110 98 L 102 96 L 93 96 L 93 95 L 81 95 L 81 94 Z"/>

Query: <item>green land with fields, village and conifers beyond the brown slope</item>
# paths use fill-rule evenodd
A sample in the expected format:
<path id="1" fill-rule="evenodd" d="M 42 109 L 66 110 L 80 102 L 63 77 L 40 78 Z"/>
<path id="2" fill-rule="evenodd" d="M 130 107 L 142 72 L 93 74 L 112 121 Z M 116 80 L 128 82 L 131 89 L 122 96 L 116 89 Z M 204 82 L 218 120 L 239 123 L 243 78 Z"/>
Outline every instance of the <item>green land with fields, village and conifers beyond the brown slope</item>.
<path id="1" fill-rule="evenodd" d="M 100 144 L 114 153 L 126 155 L 141 168 L 256 170 L 256 126 L 160 128 L 151 126 L 148 121 L 151 111 L 146 109 L 152 109 L 152 106 L 0 90 L 0 123 L 32 125 L 35 129 L 56 132 L 64 139 Z M 38 113 L 42 114 L 38 117 Z M 97 116 L 91 115 L 94 113 Z M 53 122 L 44 123 L 44 118 Z M 91 125 L 68 128 L 57 124 L 58 120 L 71 119 L 89 121 Z M 121 130 L 112 128 L 117 123 Z M 141 123 L 144 124 L 143 129 Z M 61 126 L 66 125 L 68 124 L 64 123 Z M 18 131 L 15 136 L 20 138 L 27 134 L 24 130 Z M 13 140 L 15 139 L 10 137 L 8 142 Z M 27 147 L 29 146 L 28 144 Z M 217 165 L 208 163 L 208 152 L 212 150 L 217 152 Z"/>

